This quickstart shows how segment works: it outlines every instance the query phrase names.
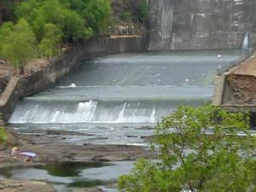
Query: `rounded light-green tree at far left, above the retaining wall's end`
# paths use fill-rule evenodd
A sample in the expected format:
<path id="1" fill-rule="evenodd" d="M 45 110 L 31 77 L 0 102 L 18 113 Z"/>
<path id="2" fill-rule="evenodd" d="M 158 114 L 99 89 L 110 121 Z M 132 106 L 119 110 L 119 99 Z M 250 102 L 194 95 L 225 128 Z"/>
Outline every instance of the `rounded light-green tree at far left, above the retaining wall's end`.
<path id="1" fill-rule="evenodd" d="M 35 35 L 29 24 L 21 18 L 3 38 L 1 55 L 23 73 L 27 61 L 35 55 L 35 43 Z"/>

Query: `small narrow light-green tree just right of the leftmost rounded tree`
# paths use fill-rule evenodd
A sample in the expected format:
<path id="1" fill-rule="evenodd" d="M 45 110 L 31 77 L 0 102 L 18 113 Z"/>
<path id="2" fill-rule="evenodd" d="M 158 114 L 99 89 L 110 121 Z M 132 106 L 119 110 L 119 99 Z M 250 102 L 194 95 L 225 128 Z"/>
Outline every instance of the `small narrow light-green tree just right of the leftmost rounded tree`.
<path id="1" fill-rule="evenodd" d="M 41 53 L 48 57 L 57 55 L 62 37 L 61 29 L 54 24 L 48 23 L 44 26 L 44 33 L 44 38 L 39 44 Z"/>

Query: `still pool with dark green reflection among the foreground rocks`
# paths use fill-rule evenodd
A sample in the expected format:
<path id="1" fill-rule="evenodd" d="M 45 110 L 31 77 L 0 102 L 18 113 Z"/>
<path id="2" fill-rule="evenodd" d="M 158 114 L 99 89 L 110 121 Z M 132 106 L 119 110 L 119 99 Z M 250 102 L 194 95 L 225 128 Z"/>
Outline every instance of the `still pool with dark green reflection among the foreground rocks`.
<path id="1" fill-rule="evenodd" d="M 52 184 L 56 191 L 70 188 L 100 186 L 103 191 L 116 192 L 114 184 L 121 174 L 131 171 L 134 161 L 119 162 L 64 162 L 30 167 L 0 169 L 0 178 L 16 180 L 39 180 Z M 109 188 L 108 188 L 109 187 Z"/>

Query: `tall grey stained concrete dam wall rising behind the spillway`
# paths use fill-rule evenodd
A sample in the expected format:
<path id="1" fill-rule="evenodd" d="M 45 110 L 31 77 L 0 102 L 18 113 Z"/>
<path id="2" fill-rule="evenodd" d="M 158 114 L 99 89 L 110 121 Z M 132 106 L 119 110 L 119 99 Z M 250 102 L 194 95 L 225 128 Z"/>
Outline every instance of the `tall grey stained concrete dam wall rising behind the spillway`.
<path id="1" fill-rule="evenodd" d="M 234 49 L 256 44 L 255 0 L 148 0 L 148 49 Z"/>

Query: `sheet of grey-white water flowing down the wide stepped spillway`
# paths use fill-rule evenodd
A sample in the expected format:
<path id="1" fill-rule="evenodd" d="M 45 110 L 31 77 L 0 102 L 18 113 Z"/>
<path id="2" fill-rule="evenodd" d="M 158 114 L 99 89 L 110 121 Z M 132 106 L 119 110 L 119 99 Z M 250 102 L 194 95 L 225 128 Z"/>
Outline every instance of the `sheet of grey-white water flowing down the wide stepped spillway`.
<path id="1" fill-rule="evenodd" d="M 218 55 L 222 55 L 220 58 Z M 9 123 L 25 133 L 68 130 L 74 143 L 143 144 L 178 105 L 210 102 L 216 70 L 242 51 L 175 51 L 108 55 L 84 61 L 55 87 L 29 96 Z"/>

